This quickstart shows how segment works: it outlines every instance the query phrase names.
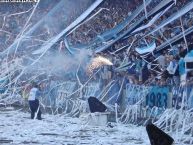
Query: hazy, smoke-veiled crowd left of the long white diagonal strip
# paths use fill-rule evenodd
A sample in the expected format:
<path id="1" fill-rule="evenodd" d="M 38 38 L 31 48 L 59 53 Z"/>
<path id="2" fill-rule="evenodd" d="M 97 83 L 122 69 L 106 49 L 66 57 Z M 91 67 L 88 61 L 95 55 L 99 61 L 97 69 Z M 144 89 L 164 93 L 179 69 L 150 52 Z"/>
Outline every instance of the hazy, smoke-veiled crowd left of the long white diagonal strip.
<path id="1" fill-rule="evenodd" d="M 82 2 L 83 3 L 81 6 L 76 6 L 74 5 L 75 1 L 65 2 L 61 0 L 46 0 L 40 1 L 37 7 L 37 3 L 34 2 L 1 3 L 0 53 L 2 53 L 4 50 L 8 50 L 14 41 L 18 38 L 18 36 L 21 36 L 26 22 L 28 22 L 26 25 L 27 29 L 23 34 L 28 32 L 31 28 L 33 28 L 34 25 L 38 24 L 39 22 L 41 24 L 38 25 L 34 31 L 31 31 L 33 33 L 30 33 L 29 36 L 24 35 L 25 39 L 22 39 L 18 47 L 21 49 L 16 50 L 18 53 L 10 53 L 9 55 L 5 55 L 5 57 L 0 58 L 0 77 L 2 78 L 1 83 L 4 82 L 4 79 L 9 79 L 9 85 L 11 85 L 11 87 L 15 87 L 15 79 L 19 78 L 18 75 L 22 73 L 21 70 L 24 68 L 24 65 L 33 60 L 30 56 L 31 52 L 37 49 L 37 47 L 40 48 L 42 44 L 60 33 L 65 27 L 72 23 L 72 21 L 75 20 L 79 14 L 83 13 L 85 9 L 92 3 L 92 1 L 87 2 L 86 0 Z M 66 11 L 64 6 L 68 7 L 69 11 Z M 35 7 L 36 9 L 33 13 Z M 77 7 L 79 7 L 79 9 L 77 9 Z M 32 17 L 30 17 L 31 14 L 33 14 Z M 70 17 L 67 17 L 68 15 L 70 15 Z M 28 21 L 29 18 L 30 21 Z M 43 19 L 44 21 L 42 21 Z M 33 50 L 33 48 L 35 49 Z M 27 85 L 30 79 L 33 80 L 33 75 L 34 74 L 31 73 L 23 73 L 19 80 L 17 80 L 18 82 L 16 86 L 22 87 Z M 57 77 L 52 76 L 51 80 L 56 80 L 56 78 Z M 38 81 L 41 79 L 42 78 L 39 77 Z M 10 82 L 10 80 L 12 82 Z M 8 88 L 7 85 L 6 88 Z M 1 89 L 5 90 L 4 87 L 1 87 Z"/>

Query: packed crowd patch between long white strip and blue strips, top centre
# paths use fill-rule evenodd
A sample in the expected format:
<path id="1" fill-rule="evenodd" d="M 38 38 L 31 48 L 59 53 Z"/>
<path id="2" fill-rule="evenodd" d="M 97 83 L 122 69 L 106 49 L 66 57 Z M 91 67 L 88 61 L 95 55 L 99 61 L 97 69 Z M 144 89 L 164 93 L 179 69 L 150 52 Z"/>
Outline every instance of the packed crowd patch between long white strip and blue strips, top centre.
<path id="1" fill-rule="evenodd" d="M 82 24 L 69 36 L 71 44 L 87 44 L 97 37 L 97 35 L 114 28 L 124 20 L 128 14 L 136 9 L 139 0 L 105 0 L 100 7 L 92 13 L 92 19 Z M 100 12 L 99 12 L 100 11 Z M 98 13 L 99 12 L 99 13 Z"/>

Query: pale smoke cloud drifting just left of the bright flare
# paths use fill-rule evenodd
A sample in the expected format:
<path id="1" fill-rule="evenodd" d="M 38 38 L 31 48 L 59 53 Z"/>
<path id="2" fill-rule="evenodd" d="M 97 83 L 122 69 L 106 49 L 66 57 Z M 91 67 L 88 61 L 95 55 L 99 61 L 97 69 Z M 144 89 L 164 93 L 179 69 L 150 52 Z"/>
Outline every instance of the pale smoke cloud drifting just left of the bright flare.
<path id="1" fill-rule="evenodd" d="M 25 73 L 65 76 L 65 74 L 76 73 L 79 65 L 83 71 L 91 60 L 91 51 L 82 49 L 73 56 L 70 54 L 50 51 L 36 64 L 29 65 Z"/>

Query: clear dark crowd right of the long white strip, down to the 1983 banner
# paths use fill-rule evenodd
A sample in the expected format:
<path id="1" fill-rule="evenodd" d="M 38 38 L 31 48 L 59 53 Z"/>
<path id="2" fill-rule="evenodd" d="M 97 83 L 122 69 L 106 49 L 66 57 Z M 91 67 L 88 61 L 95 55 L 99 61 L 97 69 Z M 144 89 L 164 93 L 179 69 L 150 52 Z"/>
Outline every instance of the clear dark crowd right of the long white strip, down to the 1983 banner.
<path id="1" fill-rule="evenodd" d="M 160 0 L 153 1 L 153 4 L 151 3 L 147 10 L 150 10 L 152 6 L 155 7 L 155 4 L 159 2 Z M 184 0 L 177 1 L 176 5 L 172 6 L 172 8 L 159 18 L 153 26 L 142 31 L 138 35 L 147 34 L 172 14 L 183 8 L 187 3 L 188 1 Z M 70 35 L 70 43 L 72 45 L 79 43 L 87 44 L 102 32 L 115 27 L 123 21 L 127 15 L 140 4 L 142 4 L 142 1 L 139 0 L 134 0 L 132 2 L 127 0 L 115 0 L 113 3 L 108 0 L 105 1 L 103 5 L 95 10 L 95 12 L 97 12 L 101 8 L 104 8 L 101 13 L 81 25 Z M 140 14 L 140 17 L 142 16 L 144 16 L 144 12 Z M 134 21 L 136 22 L 140 17 L 137 17 Z M 188 84 L 193 83 L 191 79 L 192 72 L 184 72 L 186 70 L 182 59 L 193 49 L 191 44 L 193 40 L 192 36 L 186 37 L 186 40 L 183 39 L 177 44 L 170 44 L 170 47 L 163 51 L 156 52 L 155 54 L 151 53 L 147 58 L 143 58 L 135 51 L 135 47 L 140 47 L 141 44 L 151 43 L 152 41 L 155 41 L 156 46 L 159 46 L 182 33 L 183 29 L 186 30 L 192 25 L 193 11 L 190 11 L 180 19 L 173 21 L 154 34 L 147 36 L 145 42 L 144 40 L 136 41 L 130 50 L 124 49 L 124 51 L 118 51 L 118 49 L 123 46 L 132 44 L 132 41 L 137 39 L 135 36 L 122 42 L 119 41 L 115 43 L 108 48 L 109 51 L 100 53 L 100 55 L 109 58 L 114 64 L 113 67 L 104 66 L 100 77 L 106 83 L 110 82 L 112 79 L 116 80 L 121 77 L 125 77 L 127 82 L 145 85 L 180 85 L 184 83 L 184 81 L 187 81 Z M 183 64 L 181 64 L 182 62 Z M 126 64 L 127 67 L 121 68 L 121 66 Z"/>

